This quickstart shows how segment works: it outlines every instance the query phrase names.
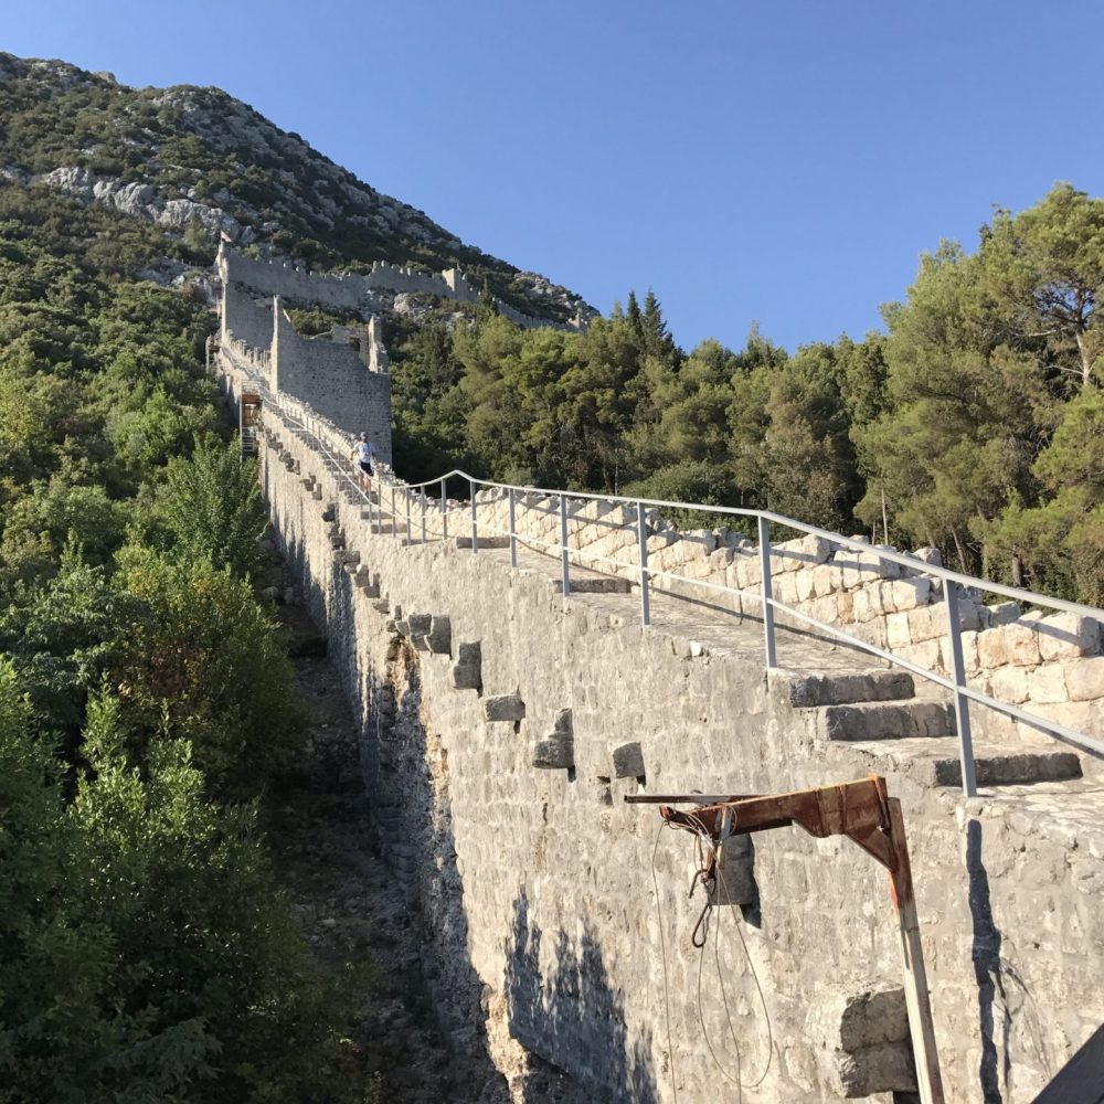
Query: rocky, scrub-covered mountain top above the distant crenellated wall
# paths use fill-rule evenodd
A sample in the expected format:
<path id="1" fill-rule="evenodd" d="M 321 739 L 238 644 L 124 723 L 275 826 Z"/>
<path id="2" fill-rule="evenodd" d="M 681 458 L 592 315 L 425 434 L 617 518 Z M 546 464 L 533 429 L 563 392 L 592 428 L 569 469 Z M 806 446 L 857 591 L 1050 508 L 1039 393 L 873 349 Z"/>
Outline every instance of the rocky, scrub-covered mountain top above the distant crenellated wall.
<path id="1" fill-rule="evenodd" d="M 240 246 L 358 270 L 459 267 L 528 314 L 564 320 L 566 288 L 488 256 L 219 88 L 129 88 L 110 74 L 0 53 L 0 180 L 120 211 L 213 254 Z"/>

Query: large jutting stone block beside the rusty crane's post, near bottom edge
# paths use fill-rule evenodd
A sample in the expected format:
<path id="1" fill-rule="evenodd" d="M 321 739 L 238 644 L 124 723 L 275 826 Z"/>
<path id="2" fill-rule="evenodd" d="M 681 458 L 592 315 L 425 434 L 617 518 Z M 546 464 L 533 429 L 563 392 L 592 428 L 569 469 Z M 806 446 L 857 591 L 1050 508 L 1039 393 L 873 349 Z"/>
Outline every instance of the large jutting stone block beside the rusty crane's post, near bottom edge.
<path id="1" fill-rule="evenodd" d="M 806 1027 L 821 1076 L 837 1095 L 916 1091 L 901 986 L 883 980 L 821 985 Z"/>

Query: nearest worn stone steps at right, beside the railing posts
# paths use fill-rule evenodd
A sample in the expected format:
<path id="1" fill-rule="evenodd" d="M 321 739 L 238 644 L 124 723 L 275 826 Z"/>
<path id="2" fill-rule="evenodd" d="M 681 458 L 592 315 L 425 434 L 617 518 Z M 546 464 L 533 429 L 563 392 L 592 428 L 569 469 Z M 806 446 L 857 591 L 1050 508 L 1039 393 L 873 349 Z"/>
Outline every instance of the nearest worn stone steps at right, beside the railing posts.
<path id="1" fill-rule="evenodd" d="M 775 676 L 789 704 L 813 714 L 820 740 L 846 742 L 879 772 L 896 769 L 932 787 L 960 787 L 962 764 L 949 702 L 917 698 L 903 671 L 856 673 L 782 671 Z M 1080 756 L 1040 737 L 974 741 L 978 785 L 1007 786 L 1080 778 Z"/>

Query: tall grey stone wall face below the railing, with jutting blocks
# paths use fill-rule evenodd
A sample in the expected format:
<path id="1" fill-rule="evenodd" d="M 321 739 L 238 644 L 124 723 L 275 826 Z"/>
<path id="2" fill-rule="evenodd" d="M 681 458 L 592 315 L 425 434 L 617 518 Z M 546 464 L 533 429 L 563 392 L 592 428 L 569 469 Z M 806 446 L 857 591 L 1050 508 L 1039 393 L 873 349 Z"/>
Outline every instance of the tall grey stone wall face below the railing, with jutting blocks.
<path id="1" fill-rule="evenodd" d="M 226 378 L 232 395 L 245 382 Z M 821 683 L 768 682 L 601 596 L 564 612 L 539 572 L 380 535 L 276 412 L 261 463 L 276 538 L 362 721 L 380 838 L 420 905 L 454 1045 L 489 1045 L 519 1100 L 669 1102 L 673 1064 L 678 1098 L 696 1104 L 735 1092 L 709 1052 L 737 1075 L 728 1007 L 749 1104 L 820 1104 L 873 1076 L 901 1087 L 884 872 L 848 841 L 757 836 L 732 851 L 725 884 L 743 903 L 714 912 L 701 957 L 691 841 L 657 843 L 655 809 L 622 800 L 862 776 L 869 758 L 826 741 L 807 708 Z M 1104 834 L 1063 821 L 1065 795 L 967 802 L 907 773 L 889 783 L 947 1098 L 1027 1102 L 1104 1019 Z M 565 1071 L 554 1093 L 534 1087 L 527 1052 Z"/>

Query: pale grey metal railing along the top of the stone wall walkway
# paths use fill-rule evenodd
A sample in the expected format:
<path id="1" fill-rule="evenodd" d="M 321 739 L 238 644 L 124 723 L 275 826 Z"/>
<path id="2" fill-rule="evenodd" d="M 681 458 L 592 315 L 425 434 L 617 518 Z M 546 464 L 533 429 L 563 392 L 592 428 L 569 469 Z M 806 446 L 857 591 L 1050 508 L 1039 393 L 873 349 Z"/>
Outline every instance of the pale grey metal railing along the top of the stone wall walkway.
<path id="1" fill-rule="evenodd" d="M 286 417 L 296 423 L 302 431 L 315 438 L 327 459 L 337 466 L 337 469 L 341 471 L 349 486 L 351 486 L 362 497 L 368 510 L 369 520 L 371 521 L 374 518 L 376 531 L 380 533 L 384 531 L 384 514 L 386 514 L 390 522 L 391 534 L 397 539 L 400 526 L 402 526 L 406 540 L 408 542 L 413 541 L 414 531 L 412 528 L 412 514 L 415 509 L 414 503 L 416 501 L 422 541 L 425 542 L 429 539 L 447 540 L 449 537 L 450 516 L 454 519 L 458 518 L 461 516 L 461 511 L 465 510 L 464 503 L 448 499 L 447 484 L 449 479 L 463 480 L 467 484 L 468 489 L 469 503 L 467 506 L 467 512 L 469 513 L 471 551 L 473 554 L 475 554 L 479 549 L 480 532 L 478 491 L 480 488 L 496 491 L 496 500 L 501 501 L 502 498 L 507 499 L 508 527 L 503 530 L 493 526 L 488 527 L 487 524 L 484 524 L 482 531 L 487 535 L 508 538 L 510 563 L 514 567 L 518 564 L 519 544 L 524 544 L 528 548 L 546 554 L 558 554 L 561 562 L 563 594 L 566 598 L 571 593 L 571 562 L 573 556 L 580 561 L 587 560 L 592 564 L 616 565 L 619 571 L 624 571 L 627 566 L 627 561 L 625 560 L 587 553 L 583 549 L 571 548 L 569 542 L 569 518 L 571 516 L 569 511 L 569 503 L 572 501 L 594 501 L 620 505 L 630 508 L 635 512 L 637 544 L 637 562 L 635 565 L 635 572 L 637 575 L 636 582 L 640 592 L 641 625 L 647 626 L 651 622 L 650 592 L 651 584 L 656 580 L 678 580 L 681 585 L 697 587 L 707 593 L 711 592 L 728 595 L 751 594 L 753 601 L 756 601 L 762 609 L 764 651 L 766 667 L 768 670 L 777 666 L 777 629 L 775 626 L 775 612 L 778 611 L 785 613 L 788 617 L 792 617 L 802 624 L 808 625 L 818 633 L 827 634 L 836 639 L 846 641 L 854 648 L 875 656 L 895 667 L 904 668 L 911 673 L 926 679 L 928 682 L 949 691 L 954 704 L 955 728 L 958 737 L 958 754 L 962 762 L 963 793 L 967 797 L 973 797 L 977 793 L 973 735 L 970 731 L 969 718 L 970 702 L 996 710 L 1016 721 L 1020 721 L 1034 729 L 1039 729 L 1052 736 L 1058 737 L 1059 740 L 1081 749 L 1082 751 L 1089 752 L 1092 755 L 1104 757 L 1104 740 L 1079 732 L 1068 725 L 1060 724 L 1049 718 L 1031 713 L 1028 710 L 1009 704 L 1008 702 L 1002 702 L 983 692 L 981 690 L 978 690 L 976 687 L 969 686 L 966 678 L 966 665 L 963 654 L 963 628 L 958 614 L 958 602 L 963 592 L 998 594 L 1016 602 L 1071 613 L 1080 617 L 1089 617 L 1097 623 L 1104 623 L 1104 609 L 1082 605 L 1076 602 L 1068 602 L 1063 598 L 1048 597 L 1047 595 L 1036 594 L 1031 591 L 1006 586 L 1002 583 L 994 583 L 988 580 L 976 578 L 970 575 L 965 575 L 962 572 L 951 571 L 937 564 L 926 563 L 914 556 L 910 556 L 891 549 L 879 548 L 878 545 L 869 544 L 864 541 L 843 537 L 840 533 L 834 533 L 830 530 L 820 529 L 817 526 L 809 526 L 805 522 L 797 521 L 794 518 L 787 518 L 769 510 L 747 510 L 740 507 L 703 506 L 699 502 L 672 502 L 664 499 L 625 498 L 586 491 L 565 491 L 561 489 L 539 487 L 518 487 L 510 484 L 479 479 L 459 468 L 454 468 L 452 471 L 448 471 L 443 476 L 438 476 L 435 479 L 426 480 L 425 482 L 406 484 L 395 478 L 394 475 L 386 470 L 383 466 L 381 466 L 378 470 L 379 492 L 376 501 L 373 503 L 371 497 L 364 495 L 352 474 L 348 470 L 347 458 L 351 452 L 352 436 L 339 429 L 329 420 L 317 415 L 307 404 L 291 399 L 283 393 L 274 395 L 264 384 L 262 384 L 262 389 L 265 392 L 265 399 L 269 405 L 279 407 Z M 383 493 L 384 487 L 389 490 L 390 507 L 385 502 L 385 496 Z M 439 491 L 437 488 L 439 488 Z M 432 493 L 427 492 L 431 489 Z M 560 528 L 560 540 L 558 542 L 542 541 L 531 533 L 519 532 L 517 524 L 518 496 L 538 496 L 541 498 L 551 498 L 556 501 L 556 513 L 559 514 Z M 728 586 L 709 580 L 690 578 L 675 572 L 660 571 L 650 567 L 648 564 L 648 537 L 652 532 L 650 522 L 655 520 L 654 514 L 651 514 L 650 511 L 660 509 L 692 510 L 699 513 L 715 514 L 721 519 L 730 517 L 754 519 L 758 535 L 761 591 L 758 593 L 749 592 L 741 587 Z M 429 519 L 434 516 L 439 519 L 439 528 L 437 528 L 436 524 L 431 523 Z M 841 549 L 849 549 L 864 555 L 873 555 L 879 561 L 896 564 L 912 573 L 938 578 L 943 587 L 943 605 L 946 611 L 946 638 L 949 643 L 951 659 L 949 672 L 947 675 L 943 675 L 938 671 L 930 670 L 928 668 L 922 667 L 903 656 L 898 656 L 885 648 L 881 648 L 878 645 L 871 644 L 858 636 L 847 633 L 839 625 L 822 622 L 775 598 L 772 586 L 771 561 L 773 556 L 782 553 L 772 550 L 769 540 L 769 529 L 772 524 L 781 526 L 807 535 L 818 537 L 827 541 L 829 544 Z M 624 527 L 618 526 L 616 528 L 619 529 Z M 458 533 L 454 533 L 454 535 L 458 535 Z"/>

